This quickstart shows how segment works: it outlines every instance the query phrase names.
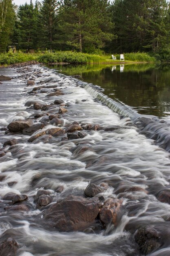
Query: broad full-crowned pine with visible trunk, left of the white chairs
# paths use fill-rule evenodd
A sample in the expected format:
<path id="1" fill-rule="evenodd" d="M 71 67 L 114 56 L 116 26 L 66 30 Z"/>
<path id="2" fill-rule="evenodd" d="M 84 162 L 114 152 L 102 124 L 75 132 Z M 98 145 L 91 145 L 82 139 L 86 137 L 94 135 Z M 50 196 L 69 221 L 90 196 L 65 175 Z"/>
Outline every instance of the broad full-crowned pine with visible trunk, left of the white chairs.
<path id="1" fill-rule="evenodd" d="M 110 41 L 112 22 L 107 0 L 64 0 L 59 11 L 62 44 L 79 52 L 94 52 Z"/>

